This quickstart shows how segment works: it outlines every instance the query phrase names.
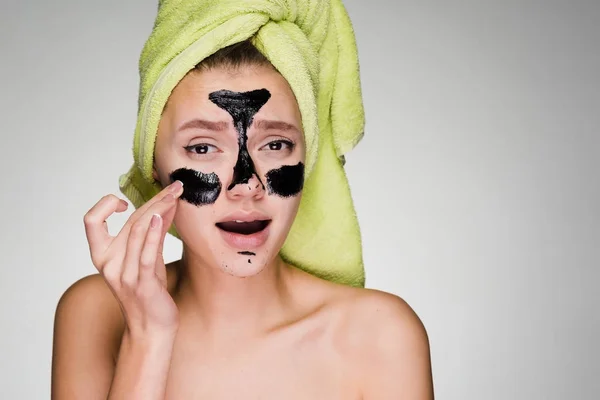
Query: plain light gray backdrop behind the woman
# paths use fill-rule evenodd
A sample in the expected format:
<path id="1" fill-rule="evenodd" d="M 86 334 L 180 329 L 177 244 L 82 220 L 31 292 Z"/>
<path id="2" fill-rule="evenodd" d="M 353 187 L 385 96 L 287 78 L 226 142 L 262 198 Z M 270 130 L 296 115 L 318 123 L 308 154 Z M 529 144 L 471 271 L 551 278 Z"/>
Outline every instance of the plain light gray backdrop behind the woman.
<path id="1" fill-rule="evenodd" d="M 368 287 L 422 318 L 437 398 L 598 398 L 600 2 L 346 4 Z M 155 11 L 0 5 L 0 398 L 49 397 L 56 302 L 95 272 L 82 216 L 129 168 Z"/>

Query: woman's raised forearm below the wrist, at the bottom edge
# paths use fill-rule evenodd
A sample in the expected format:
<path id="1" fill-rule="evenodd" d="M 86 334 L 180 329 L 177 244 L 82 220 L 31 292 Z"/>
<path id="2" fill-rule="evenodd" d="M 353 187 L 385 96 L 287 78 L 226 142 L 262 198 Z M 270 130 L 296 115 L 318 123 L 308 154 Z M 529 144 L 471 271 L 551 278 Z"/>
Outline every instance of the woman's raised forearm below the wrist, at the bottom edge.
<path id="1" fill-rule="evenodd" d="M 123 335 L 108 400 L 164 400 L 174 341 Z"/>

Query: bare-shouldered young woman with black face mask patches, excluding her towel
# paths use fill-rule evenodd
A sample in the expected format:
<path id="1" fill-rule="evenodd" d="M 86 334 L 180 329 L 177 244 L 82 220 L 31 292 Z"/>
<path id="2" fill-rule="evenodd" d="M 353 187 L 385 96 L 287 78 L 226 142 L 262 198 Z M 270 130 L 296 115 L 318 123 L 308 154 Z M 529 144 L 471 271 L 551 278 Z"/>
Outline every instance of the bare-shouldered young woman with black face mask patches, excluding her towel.
<path id="1" fill-rule="evenodd" d="M 432 399 L 427 335 L 403 300 L 281 257 L 306 159 L 297 97 L 250 41 L 186 73 L 158 124 L 163 190 L 116 237 L 105 221 L 124 200 L 85 215 L 99 274 L 59 302 L 53 399 Z M 172 225 L 183 254 L 165 265 Z"/>

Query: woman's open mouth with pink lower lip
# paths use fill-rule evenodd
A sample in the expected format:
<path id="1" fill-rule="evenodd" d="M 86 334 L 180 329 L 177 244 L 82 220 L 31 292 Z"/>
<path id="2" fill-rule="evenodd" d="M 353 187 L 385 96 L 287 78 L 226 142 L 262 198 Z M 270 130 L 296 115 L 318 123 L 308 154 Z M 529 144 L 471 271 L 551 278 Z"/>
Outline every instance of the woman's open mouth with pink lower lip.
<path id="1" fill-rule="evenodd" d="M 269 236 L 270 219 L 231 220 L 217 222 L 215 225 L 227 244 L 236 249 L 254 249 L 262 246 Z"/>

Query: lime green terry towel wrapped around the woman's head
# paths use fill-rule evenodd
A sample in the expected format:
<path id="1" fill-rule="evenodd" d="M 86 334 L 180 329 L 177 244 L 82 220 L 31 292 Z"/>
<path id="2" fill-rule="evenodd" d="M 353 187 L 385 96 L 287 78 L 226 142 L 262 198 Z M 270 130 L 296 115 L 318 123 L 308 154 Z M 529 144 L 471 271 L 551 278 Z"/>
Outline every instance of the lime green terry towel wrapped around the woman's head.
<path id="1" fill-rule="evenodd" d="M 154 143 L 171 91 L 204 58 L 247 39 L 288 81 L 306 140 L 302 200 L 281 256 L 316 276 L 362 287 L 343 155 L 362 138 L 364 110 L 354 31 L 340 0 L 159 1 L 140 57 L 134 165 L 121 176 L 121 191 L 136 207 L 160 191 L 152 178 Z"/>

